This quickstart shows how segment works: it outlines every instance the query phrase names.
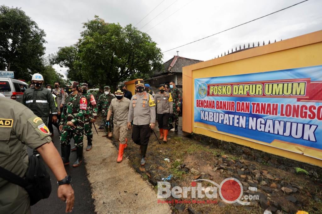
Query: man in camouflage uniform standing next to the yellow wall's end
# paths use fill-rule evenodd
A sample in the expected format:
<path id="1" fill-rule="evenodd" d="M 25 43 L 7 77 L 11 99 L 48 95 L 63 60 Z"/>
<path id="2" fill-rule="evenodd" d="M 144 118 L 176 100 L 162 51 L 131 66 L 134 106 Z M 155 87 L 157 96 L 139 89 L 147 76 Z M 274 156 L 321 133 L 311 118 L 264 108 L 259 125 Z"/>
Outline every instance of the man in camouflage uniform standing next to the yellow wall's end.
<path id="1" fill-rule="evenodd" d="M 170 81 L 170 93 L 173 99 L 173 116 L 174 121 L 169 124 L 169 130 L 173 129 L 172 122 L 175 122 L 175 132 L 178 131 L 179 113 L 181 107 L 181 91 L 175 87 L 175 81 Z"/>

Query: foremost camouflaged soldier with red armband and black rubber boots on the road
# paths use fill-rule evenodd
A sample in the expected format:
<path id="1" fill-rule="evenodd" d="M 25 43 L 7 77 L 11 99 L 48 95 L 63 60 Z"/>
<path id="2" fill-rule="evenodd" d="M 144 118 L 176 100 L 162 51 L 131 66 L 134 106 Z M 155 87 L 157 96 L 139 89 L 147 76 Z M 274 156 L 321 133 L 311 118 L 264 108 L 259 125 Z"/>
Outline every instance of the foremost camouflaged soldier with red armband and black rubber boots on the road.
<path id="1" fill-rule="evenodd" d="M 69 164 L 71 153 L 71 137 L 76 146 L 77 159 L 73 167 L 81 165 L 83 156 L 84 116 L 87 110 L 87 100 L 78 93 L 79 82 L 69 81 L 65 88 L 69 96 L 65 99 L 59 130 L 61 133 L 62 160 L 64 165 Z"/>

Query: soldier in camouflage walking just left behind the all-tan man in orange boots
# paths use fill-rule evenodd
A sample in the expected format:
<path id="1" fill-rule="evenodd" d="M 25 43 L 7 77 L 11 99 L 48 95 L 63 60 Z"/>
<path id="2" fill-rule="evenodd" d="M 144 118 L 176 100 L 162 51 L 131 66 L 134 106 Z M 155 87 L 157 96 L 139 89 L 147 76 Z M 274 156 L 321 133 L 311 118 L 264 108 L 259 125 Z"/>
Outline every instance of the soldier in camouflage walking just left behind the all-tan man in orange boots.
<path id="1" fill-rule="evenodd" d="M 107 113 L 109 111 L 109 105 L 113 98 L 115 98 L 111 93 L 109 86 L 104 86 L 104 94 L 99 96 L 98 100 L 98 110 L 102 111 L 102 119 L 105 121 L 105 135 L 102 137 L 112 137 L 112 120 L 106 120 Z"/>

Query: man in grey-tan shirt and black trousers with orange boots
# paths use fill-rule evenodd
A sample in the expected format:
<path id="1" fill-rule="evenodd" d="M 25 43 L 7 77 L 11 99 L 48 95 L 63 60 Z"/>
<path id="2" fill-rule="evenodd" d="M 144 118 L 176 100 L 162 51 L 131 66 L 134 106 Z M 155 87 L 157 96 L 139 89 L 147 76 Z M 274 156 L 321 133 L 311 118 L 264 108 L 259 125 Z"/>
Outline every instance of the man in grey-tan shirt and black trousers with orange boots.
<path id="1" fill-rule="evenodd" d="M 156 114 L 158 119 L 158 127 L 160 130 L 160 140 L 167 141 L 168 136 L 168 121 L 169 116 L 173 114 L 172 97 L 171 94 L 165 92 L 165 85 L 159 86 L 159 92 L 156 93 L 154 99 L 156 100 Z"/>

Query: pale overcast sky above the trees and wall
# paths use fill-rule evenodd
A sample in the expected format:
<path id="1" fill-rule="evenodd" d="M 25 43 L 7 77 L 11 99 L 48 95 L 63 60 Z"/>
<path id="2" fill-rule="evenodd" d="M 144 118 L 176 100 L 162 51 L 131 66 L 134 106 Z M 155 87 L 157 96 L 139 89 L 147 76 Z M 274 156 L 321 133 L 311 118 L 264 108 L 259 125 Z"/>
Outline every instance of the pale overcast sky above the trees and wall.
<path id="1" fill-rule="evenodd" d="M 47 34 L 47 55 L 55 53 L 58 47 L 76 43 L 82 31 L 82 23 L 93 19 L 94 15 L 99 15 L 106 22 L 119 22 L 122 26 L 130 23 L 136 25 L 162 1 L 2 0 L 1 4 L 21 7 L 37 22 Z M 141 30 L 147 31 L 161 50 L 166 51 L 301 1 L 164 0 L 136 27 L 141 29 L 150 21 Z M 239 45 L 248 46 L 248 43 L 257 44 L 258 41 L 262 45 L 263 40 L 267 44 L 268 40 L 278 41 L 322 30 L 321 8 L 321 0 L 309 0 L 241 27 L 168 51 L 164 53 L 163 61 L 176 55 L 176 50 L 179 51 L 179 56 L 205 61 Z M 165 11 L 161 13 L 163 10 Z M 161 14 L 157 16 L 159 13 Z M 170 17 L 167 18 L 168 16 Z M 67 70 L 54 67 L 61 73 Z"/>

